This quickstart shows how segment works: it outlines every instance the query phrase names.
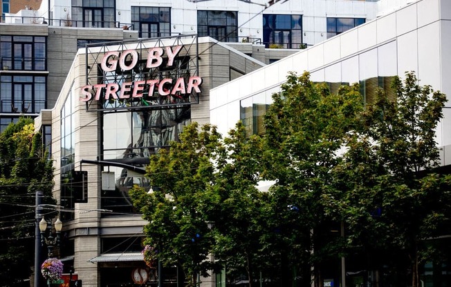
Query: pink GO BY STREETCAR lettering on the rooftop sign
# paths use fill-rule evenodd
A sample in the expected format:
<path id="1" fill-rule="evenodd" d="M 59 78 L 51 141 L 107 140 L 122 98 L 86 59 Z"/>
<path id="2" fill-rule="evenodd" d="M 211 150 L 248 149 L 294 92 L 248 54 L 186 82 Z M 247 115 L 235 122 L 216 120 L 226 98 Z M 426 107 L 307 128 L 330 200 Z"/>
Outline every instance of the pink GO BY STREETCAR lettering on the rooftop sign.
<path id="1" fill-rule="evenodd" d="M 165 47 L 164 49 L 162 47 L 149 48 L 145 68 L 155 69 L 161 66 L 171 68 L 174 65 L 174 59 L 182 48 L 183 46 Z M 164 55 L 166 55 L 167 61 L 163 61 Z M 100 67 L 103 72 L 114 72 L 119 66 L 120 70 L 127 72 L 134 70 L 138 60 L 139 53 L 136 50 L 110 51 L 104 54 Z M 165 65 L 163 65 L 164 62 L 166 62 Z M 82 86 L 80 101 L 134 99 L 145 97 L 145 95 L 154 95 L 154 92 L 157 92 L 160 97 L 169 95 L 183 97 L 192 92 L 201 92 L 199 87 L 201 83 L 202 78 L 198 76 L 98 83 Z"/>

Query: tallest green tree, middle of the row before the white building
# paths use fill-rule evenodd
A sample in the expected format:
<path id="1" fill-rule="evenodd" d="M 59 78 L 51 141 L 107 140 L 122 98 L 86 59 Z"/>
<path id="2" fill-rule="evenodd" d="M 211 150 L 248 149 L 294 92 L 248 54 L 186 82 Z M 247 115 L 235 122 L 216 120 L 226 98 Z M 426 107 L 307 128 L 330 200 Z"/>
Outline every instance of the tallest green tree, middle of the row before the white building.
<path id="1" fill-rule="evenodd" d="M 362 96 L 358 86 L 333 95 L 308 73 L 290 73 L 273 101 L 266 115 L 264 178 L 276 181 L 270 191 L 277 234 L 268 241 L 281 254 L 279 264 L 304 264 L 297 266 L 299 272 L 314 266 L 315 286 L 320 286 L 321 263 L 342 250 L 340 237 L 331 237 L 337 224 L 333 206 L 323 197 L 340 192 L 331 185 L 331 169 L 340 164 L 345 135 L 358 128 Z M 308 273 L 304 280 L 310 279 L 305 277 Z"/>

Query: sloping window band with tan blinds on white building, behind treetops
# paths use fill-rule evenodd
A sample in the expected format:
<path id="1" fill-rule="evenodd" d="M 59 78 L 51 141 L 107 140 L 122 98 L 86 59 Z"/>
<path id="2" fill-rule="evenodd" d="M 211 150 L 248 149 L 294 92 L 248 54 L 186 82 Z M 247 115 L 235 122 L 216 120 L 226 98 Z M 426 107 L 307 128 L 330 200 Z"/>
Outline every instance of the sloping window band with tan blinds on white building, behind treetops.
<path id="1" fill-rule="evenodd" d="M 362 101 L 371 105 L 375 103 L 379 89 L 383 89 L 389 99 L 396 100 L 396 93 L 392 88 L 396 75 L 398 75 L 396 41 L 392 41 L 314 70 L 310 79 L 314 82 L 327 83 L 333 93 L 338 92 L 338 88 L 342 85 L 359 83 Z M 240 101 L 240 119 L 246 128 L 247 136 L 264 134 L 264 115 L 272 103 L 273 92 L 278 90 L 266 90 Z"/>

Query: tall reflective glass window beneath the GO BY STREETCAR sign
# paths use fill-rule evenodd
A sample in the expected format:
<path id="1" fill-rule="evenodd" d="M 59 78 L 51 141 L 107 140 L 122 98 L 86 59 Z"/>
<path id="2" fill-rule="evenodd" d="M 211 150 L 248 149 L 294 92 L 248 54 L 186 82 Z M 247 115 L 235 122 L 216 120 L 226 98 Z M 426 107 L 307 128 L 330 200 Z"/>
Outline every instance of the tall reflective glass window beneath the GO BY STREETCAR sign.
<path id="1" fill-rule="evenodd" d="M 177 141 L 183 127 L 190 122 L 190 108 L 140 110 L 136 112 L 105 112 L 103 116 L 103 158 L 129 166 L 145 168 L 149 157 L 160 148 Z M 102 190 L 101 206 L 123 214 L 136 213 L 128 190 L 135 184 L 149 188 L 144 175 L 127 168 L 108 167 L 114 172 L 116 186 Z M 102 175 L 106 176 L 106 175 Z M 114 213 L 105 213 L 103 216 Z"/>

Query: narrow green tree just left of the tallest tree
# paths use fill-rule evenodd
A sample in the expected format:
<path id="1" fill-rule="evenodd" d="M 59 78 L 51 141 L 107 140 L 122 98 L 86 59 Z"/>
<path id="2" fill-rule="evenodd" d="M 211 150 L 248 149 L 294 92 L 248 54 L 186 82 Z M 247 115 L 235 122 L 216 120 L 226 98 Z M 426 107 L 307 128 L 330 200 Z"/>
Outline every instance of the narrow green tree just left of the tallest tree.
<path id="1" fill-rule="evenodd" d="M 214 259 L 226 268 L 227 278 L 237 279 L 246 274 L 248 286 L 270 263 L 261 244 L 267 232 L 268 196 L 257 189 L 262 148 L 259 137 L 246 139 L 241 123 L 230 130 L 209 188 L 216 200 L 212 207 L 205 206 L 208 220 L 214 226 Z"/>

